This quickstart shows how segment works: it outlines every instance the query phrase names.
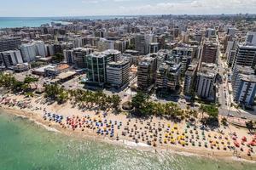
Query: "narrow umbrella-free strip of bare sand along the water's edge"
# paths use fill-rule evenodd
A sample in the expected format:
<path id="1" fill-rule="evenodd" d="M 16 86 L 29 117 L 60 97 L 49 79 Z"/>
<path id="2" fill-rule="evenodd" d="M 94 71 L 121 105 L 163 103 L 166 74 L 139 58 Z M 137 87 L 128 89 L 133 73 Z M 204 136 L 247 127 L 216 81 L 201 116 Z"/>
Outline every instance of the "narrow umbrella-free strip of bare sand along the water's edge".
<path id="1" fill-rule="evenodd" d="M 58 123 L 52 123 L 49 127 L 49 124 L 47 124 L 47 121 L 44 121 L 44 118 L 42 116 L 39 116 L 38 114 L 32 112 L 32 111 L 24 111 L 24 110 L 18 110 L 15 108 L 9 108 L 1 106 L 0 110 L 6 111 L 8 114 L 12 114 L 14 116 L 21 116 L 24 118 L 27 118 L 29 121 L 32 121 L 33 123 L 37 124 L 40 127 L 44 127 L 46 130 L 54 132 L 54 133 L 61 133 L 66 135 L 67 137 L 73 137 L 76 139 L 93 139 L 98 140 L 101 142 L 107 142 L 108 144 L 119 144 L 131 149 L 136 150 L 142 150 L 142 151 L 150 151 L 150 152 L 169 152 L 169 153 L 175 153 L 177 155 L 181 156 L 201 156 L 208 159 L 224 159 L 226 161 L 242 161 L 242 162 L 249 162 L 249 163 L 256 163 L 255 157 L 253 156 L 252 159 L 248 159 L 247 156 L 241 156 L 241 158 L 238 158 L 236 156 L 233 156 L 231 152 L 227 151 L 221 151 L 221 150 L 204 150 L 204 148 L 201 148 L 201 150 L 191 149 L 191 148 L 185 148 L 182 146 L 177 145 L 158 145 L 156 147 L 149 146 L 145 143 L 138 143 L 136 144 L 134 141 L 128 140 L 128 139 L 119 139 L 119 141 L 116 141 L 114 139 L 109 139 L 108 137 L 103 137 L 101 135 L 97 135 L 96 133 L 91 133 L 88 131 L 84 131 L 83 133 L 81 131 L 73 131 L 71 129 L 63 129 Z"/>

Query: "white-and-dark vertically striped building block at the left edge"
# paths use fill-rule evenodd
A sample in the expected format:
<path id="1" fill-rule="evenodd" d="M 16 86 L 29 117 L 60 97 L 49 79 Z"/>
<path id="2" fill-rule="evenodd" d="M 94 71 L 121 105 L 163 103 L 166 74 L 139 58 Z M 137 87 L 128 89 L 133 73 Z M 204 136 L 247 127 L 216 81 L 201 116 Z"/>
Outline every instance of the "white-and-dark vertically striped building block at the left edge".
<path id="1" fill-rule="evenodd" d="M 0 58 L 1 58 L 0 60 L 3 61 L 3 64 L 5 65 L 6 68 L 23 63 L 20 50 L 0 52 Z"/>

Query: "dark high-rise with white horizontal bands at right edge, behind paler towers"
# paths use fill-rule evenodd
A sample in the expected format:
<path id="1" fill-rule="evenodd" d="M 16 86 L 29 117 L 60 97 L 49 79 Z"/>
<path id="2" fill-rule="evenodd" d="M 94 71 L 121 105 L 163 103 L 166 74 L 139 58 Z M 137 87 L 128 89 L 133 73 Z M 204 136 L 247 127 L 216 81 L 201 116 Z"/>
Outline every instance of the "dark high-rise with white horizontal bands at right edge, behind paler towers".
<path id="1" fill-rule="evenodd" d="M 232 70 L 234 70 L 236 65 L 254 68 L 256 65 L 256 46 L 238 44 L 236 46 L 236 55 L 231 66 Z"/>

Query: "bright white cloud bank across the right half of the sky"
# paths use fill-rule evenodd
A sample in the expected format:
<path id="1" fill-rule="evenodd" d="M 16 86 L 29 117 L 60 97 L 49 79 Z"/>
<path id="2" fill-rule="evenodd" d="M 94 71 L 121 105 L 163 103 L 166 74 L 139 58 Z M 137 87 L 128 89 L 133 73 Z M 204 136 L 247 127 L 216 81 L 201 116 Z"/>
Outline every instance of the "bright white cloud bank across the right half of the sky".
<path id="1" fill-rule="evenodd" d="M 119 8 L 119 12 L 125 14 L 234 14 L 255 11 L 256 0 L 194 0 Z"/>

